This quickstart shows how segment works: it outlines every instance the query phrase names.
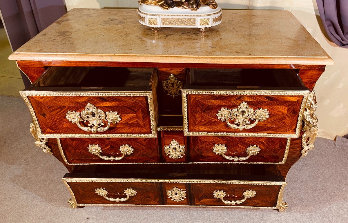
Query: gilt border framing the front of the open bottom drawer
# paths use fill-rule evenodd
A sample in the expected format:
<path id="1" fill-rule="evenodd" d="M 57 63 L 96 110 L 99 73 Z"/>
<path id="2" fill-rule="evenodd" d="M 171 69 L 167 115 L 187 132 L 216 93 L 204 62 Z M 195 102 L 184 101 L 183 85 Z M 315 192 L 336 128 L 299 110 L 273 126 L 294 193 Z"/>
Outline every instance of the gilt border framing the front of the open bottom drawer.
<path id="1" fill-rule="evenodd" d="M 220 183 L 220 184 L 247 184 L 247 185 L 281 185 L 281 188 L 278 193 L 277 204 L 275 207 L 255 207 L 255 206 L 207 206 L 207 205 L 181 205 L 184 207 L 237 207 L 237 208 L 269 208 L 269 209 L 279 209 L 282 212 L 282 208 L 284 207 L 285 202 L 283 202 L 283 194 L 284 187 L 286 186 L 286 182 L 267 182 L 267 181 L 224 181 L 224 180 L 169 180 L 169 179 L 107 179 L 107 178 L 62 178 L 64 184 L 68 188 L 71 199 L 69 199 L 68 203 L 72 208 L 76 208 L 78 206 L 114 206 L 114 205 L 123 205 L 123 204 L 78 204 L 75 194 L 72 191 L 69 183 L 70 182 L 134 182 L 134 183 Z M 172 205 L 124 205 L 124 206 L 172 206 Z M 176 206 L 177 207 L 177 206 Z M 287 204 L 286 204 L 287 207 Z"/>

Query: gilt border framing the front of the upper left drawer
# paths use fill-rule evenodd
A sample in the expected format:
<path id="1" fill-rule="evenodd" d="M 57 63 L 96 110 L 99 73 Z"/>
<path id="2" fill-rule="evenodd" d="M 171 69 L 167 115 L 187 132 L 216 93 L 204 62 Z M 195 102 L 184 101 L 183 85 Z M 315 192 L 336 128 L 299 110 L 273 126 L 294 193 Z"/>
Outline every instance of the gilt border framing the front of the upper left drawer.
<path id="1" fill-rule="evenodd" d="M 38 137 L 40 138 L 156 138 L 156 122 L 155 122 L 155 107 L 153 105 L 153 98 L 151 91 L 124 91 L 124 92 L 80 92 L 80 91 L 20 91 L 19 92 L 25 101 L 35 128 L 37 129 Z M 85 97 L 137 97 L 137 96 L 146 96 L 148 98 L 149 112 L 150 112 L 150 122 L 151 122 L 151 134 L 42 134 L 39 121 L 36 117 L 33 106 L 29 101 L 29 96 L 85 96 Z"/>

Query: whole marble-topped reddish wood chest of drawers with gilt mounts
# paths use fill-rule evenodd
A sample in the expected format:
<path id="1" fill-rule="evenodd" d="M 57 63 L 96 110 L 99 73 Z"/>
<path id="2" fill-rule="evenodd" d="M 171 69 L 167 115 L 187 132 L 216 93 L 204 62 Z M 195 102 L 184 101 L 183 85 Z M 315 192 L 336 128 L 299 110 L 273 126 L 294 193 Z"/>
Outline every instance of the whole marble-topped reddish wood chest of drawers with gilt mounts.
<path id="1" fill-rule="evenodd" d="M 289 12 L 223 14 L 204 34 L 153 33 L 136 10 L 73 9 L 10 56 L 32 82 L 21 95 L 35 145 L 68 169 L 71 207 L 285 210 L 333 62 Z"/>

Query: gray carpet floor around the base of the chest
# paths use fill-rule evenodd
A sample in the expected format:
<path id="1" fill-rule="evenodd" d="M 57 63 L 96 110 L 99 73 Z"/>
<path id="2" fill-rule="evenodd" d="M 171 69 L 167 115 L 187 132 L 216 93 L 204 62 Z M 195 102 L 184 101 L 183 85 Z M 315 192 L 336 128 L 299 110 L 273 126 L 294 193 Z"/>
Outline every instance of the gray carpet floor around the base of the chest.
<path id="1" fill-rule="evenodd" d="M 348 140 L 318 138 L 290 170 L 284 213 L 272 209 L 85 207 L 71 209 L 65 167 L 34 145 L 19 97 L 0 96 L 0 222 L 348 222 Z"/>

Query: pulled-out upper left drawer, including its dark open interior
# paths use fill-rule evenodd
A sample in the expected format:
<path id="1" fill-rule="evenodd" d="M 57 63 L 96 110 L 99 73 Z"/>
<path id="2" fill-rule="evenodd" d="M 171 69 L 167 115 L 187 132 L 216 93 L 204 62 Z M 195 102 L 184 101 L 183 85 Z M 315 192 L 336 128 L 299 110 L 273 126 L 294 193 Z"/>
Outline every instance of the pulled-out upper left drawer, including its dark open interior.
<path id="1" fill-rule="evenodd" d="M 157 70 L 49 67 L 21 91 L 39 137 L 156 137 Z"/>

